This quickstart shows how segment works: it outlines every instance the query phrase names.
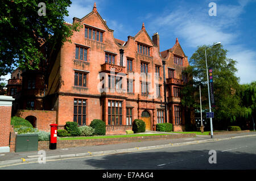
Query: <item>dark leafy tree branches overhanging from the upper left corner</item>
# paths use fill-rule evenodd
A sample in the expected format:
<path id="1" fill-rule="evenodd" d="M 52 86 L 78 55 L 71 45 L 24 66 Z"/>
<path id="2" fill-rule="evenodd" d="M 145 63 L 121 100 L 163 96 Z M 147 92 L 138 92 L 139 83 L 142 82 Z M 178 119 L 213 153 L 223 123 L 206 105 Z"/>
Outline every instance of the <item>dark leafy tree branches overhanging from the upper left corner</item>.
<path id="1" fill-rule="evenodd" d="M 79 31 L 80 23 L 68 26 L 64 22 L 71 1 L 47 1 L 43 15 L 39 2 L 3 0 L 0 3 L 0 76 L 17 66 L 38 69 L 48 53 L 43 53 L 43 44 L 47 43 L 44 48 L 51 50 L 58 43 L 70 41 L 73 31 Z"/>

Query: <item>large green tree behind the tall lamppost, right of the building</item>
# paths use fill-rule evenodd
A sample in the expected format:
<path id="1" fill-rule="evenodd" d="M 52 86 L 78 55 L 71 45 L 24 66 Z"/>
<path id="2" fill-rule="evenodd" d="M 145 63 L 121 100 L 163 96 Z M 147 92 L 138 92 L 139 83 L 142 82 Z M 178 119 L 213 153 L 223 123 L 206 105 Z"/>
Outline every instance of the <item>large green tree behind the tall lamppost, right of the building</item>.
<path id="1" fill-rule="evenodd" d="M 187 72 L 193 77 L 192 81 L 181 91 L 183 94 L 182 103 L 184 100 L 189 100 L 195 108 L 199 108 L 199 85 L 201 85 L 202 107 L 209 109 L 207 73 L 205 64 L 205 48 L 204 45 L 198 47 L 189 60 L 191 65 Z M 236 92 L 239 88 L 240 78 L 236 77 L 236 61 L 226 57 L 228 50 L 225 50 L 222 45 L 217 45 L 207 49 L 208 68 L 213 69 L 213 87 L 214 100 L 216 107 L 212 108 L 214 112 L 214 125 L 217 129 L 226 129 L 227 125 L 236 121 L 236 117 L 241 112 L 240 98 Z M 190 86 L 190 88 L 188 88 Z M 188 99 L 188 97 L 190 97 Z M 187 101 L 188 102 L 188 101 Z"/>

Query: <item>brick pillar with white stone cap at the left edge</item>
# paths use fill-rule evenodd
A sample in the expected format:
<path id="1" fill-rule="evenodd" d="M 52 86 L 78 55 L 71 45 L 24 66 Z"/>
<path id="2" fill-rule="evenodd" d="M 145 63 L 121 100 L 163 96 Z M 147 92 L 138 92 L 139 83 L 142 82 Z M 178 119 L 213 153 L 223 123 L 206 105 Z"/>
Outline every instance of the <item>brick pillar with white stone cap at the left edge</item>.
<path id="1" fill-rule="evenodd" d="M 0 153 L 10 152 L 9 138 L 13 100 L 12 96 L 0 95 Z"/>

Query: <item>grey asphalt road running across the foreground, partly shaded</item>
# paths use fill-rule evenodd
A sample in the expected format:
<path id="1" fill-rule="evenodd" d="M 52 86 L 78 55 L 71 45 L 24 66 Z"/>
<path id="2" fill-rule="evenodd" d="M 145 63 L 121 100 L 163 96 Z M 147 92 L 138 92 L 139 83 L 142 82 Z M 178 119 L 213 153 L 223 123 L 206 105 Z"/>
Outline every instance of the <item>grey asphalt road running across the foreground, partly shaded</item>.
<path id="1" fill-rule="evenodd" d="M 216 159 L 210 150 L 216 151 Z M 216 163 L 209 163 L 216 161 Z M 256 169 L 256 138 L 243 137 L 201 144 L 172 146 L 129 153 L 66 158 L 46 163 L 22 163 L 0 169 L 24 170 L 182 170 Z"/>

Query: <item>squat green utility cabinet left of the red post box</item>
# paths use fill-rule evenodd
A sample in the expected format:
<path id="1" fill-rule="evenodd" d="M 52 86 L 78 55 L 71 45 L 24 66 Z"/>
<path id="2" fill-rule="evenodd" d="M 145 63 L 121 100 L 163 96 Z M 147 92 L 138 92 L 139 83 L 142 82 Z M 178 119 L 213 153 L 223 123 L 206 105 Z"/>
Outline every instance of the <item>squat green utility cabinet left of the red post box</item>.
<path id="1" fill-rule="evenodd" d="M 17 134 L 15 152 L 37 151 L 38 134 Z"/>

